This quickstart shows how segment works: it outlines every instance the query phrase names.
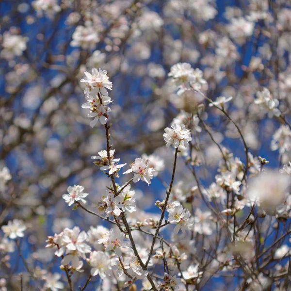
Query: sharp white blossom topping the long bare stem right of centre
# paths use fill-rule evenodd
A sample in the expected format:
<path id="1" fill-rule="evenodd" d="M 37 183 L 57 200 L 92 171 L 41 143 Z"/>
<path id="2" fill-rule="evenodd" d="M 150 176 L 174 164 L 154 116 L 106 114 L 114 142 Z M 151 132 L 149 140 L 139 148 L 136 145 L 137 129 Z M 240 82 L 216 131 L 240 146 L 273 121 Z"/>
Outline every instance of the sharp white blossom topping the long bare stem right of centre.
<path id="1" fill-rule="evenodd" d="M 185 128 L 184 124 L 173 124 L 171 128 L 165 128 L 163 137 L 167 147 L 173 145 L 177 148 L 182 145 L 187 148 L 189 146 L 188 142 L 192 141 L 191 132 Z"/>

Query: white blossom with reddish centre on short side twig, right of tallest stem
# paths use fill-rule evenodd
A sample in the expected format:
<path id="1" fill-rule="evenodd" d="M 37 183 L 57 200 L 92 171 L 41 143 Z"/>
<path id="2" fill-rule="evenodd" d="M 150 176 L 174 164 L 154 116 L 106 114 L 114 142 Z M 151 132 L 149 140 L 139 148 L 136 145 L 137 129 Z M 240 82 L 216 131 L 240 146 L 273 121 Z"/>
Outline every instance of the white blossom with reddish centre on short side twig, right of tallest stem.
<path id="1" fill-rule="evenodd" d="M 129 174 L 131 172 L 136 173 L 133 178 L 133 182 L 136 183 L 139 180 L 145 181 L 148 185 L 151 183 L 150 179 L 153 178 L 154 168 L 149 166 L 149 161 L 142 158 L 136 158 L 133 163 L 130 164 L 130 169 L 123 174 Z"/>

